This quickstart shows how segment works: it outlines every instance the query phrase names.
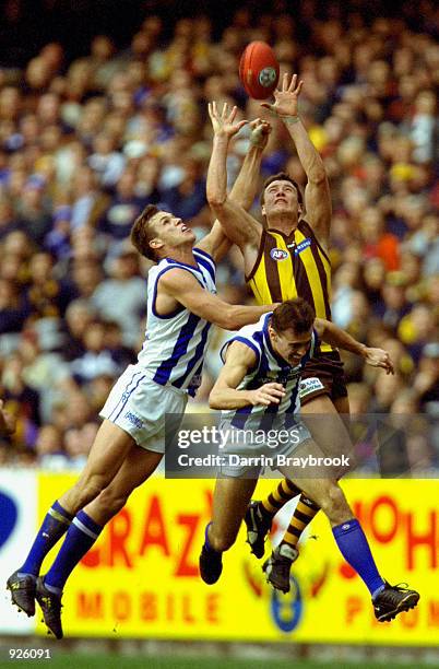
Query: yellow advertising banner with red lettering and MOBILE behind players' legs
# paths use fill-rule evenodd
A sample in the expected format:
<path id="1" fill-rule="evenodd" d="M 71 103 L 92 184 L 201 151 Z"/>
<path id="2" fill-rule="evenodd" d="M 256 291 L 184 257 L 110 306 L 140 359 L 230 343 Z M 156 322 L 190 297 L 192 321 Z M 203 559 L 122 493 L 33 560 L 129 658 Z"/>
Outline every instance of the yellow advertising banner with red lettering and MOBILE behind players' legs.
<path id="1" fill-rule="evenodd" d="M 40 474 L 40 518 L 71 482 Z M 273 484 L 261 481 L 257 496 Z M 437 645 L 438 481 L 343 482 L 383 577 L 420 592 L 418 607 L 391 623 L 376 622 L 369 592 L 340 554 L 322 514 L 300 545 L 289 594 L 265 583 L 263 561 L 250 555 L 242 528 L 224 555 L 220 582 L 206 586 L 198 556 L 213 486 L 211 480 L 154 478 L 133 493 L 67 584 L 68 636 Z M 280 539 L 290 510 L 283 512 L 272 539 Z M 46 633 L 39 622 L 38 632 Z"/>

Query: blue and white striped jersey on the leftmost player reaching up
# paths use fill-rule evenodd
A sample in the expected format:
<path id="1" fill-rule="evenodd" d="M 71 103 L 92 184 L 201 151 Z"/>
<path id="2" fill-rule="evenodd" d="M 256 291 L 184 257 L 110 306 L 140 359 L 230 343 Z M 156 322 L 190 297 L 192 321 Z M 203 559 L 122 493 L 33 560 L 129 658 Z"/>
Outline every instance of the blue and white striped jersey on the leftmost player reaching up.
<path id="1" fill-rule="evenodd" d="M 155 308 L 161 277 L 171 269 L 190 272 L 200 285 L 216 293 L 215 262 L 205 251 L 194 248 L 198 267 L 164 258 L 149 273 L 146 336 L 139 353 L 139 365 L 161 386 L 194 395 L 201 383 L 204 353 L 209 345 L 211 325 L 180 305 L 174 313 L 159 316 Z"/>

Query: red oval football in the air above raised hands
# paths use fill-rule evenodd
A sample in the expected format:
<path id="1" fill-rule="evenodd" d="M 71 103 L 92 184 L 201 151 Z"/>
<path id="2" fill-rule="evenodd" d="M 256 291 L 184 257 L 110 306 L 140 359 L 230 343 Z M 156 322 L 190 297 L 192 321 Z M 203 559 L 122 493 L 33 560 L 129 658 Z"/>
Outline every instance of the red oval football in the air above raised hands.
<path id="1" fill-rule="evenodd" d="M 278 81 L 278 62 L 265 42 L 250 42 L 239 62 L 239 78 L 250 97 L 266 99 Z"/>

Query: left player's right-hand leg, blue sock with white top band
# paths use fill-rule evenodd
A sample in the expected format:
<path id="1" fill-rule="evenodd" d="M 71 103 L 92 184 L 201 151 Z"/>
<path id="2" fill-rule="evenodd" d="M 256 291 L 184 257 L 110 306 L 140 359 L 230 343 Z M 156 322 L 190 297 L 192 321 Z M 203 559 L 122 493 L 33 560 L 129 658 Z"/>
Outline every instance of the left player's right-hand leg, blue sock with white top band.
<path id="1" fill-rule="evenodd" d="M 56 638 L 63 635 L 61 597 L 68 577 L 132 491 L 150 478 L 162 457 L 163 454 L 133 445 L 110 484 L 74 517 L 52 566 L 46 576 L 38 577 L 36 598 L 44 621 Z"/>

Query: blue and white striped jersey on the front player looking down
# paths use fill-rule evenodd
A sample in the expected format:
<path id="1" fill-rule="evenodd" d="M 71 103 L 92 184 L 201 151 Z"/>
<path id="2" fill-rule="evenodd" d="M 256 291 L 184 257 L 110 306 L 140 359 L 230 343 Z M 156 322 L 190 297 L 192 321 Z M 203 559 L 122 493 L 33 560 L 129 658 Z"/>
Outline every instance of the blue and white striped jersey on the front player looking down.
<path id="1" fill-rule="evenodd" d="M 273 350 L 269 334 L 271 315 L 264 314 L 257 324 L 241 328 L 235 337 L 226 341 L 221 351 L 224 362 L 226 348 L 233 341 L 240 341 L 256 353 L 257 363 L 246 374 L 237 390 L 256 390 L 270 383 L 282 384 L 285 388 L 285 396 L 278 404 L 249 404 L 241 409 L 222 411 L 222 419 L 238 430 L 270 430 L 280 425 L 288 427 L 295 423 L 294 414 L 300 409 L 300 374 L 308 360 L 315 355 L 319 338 L 316 330 L 312 330 L 308 352 L 298 365 L 292 366 Z"/>

